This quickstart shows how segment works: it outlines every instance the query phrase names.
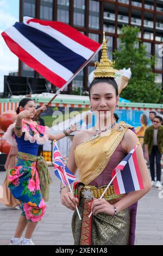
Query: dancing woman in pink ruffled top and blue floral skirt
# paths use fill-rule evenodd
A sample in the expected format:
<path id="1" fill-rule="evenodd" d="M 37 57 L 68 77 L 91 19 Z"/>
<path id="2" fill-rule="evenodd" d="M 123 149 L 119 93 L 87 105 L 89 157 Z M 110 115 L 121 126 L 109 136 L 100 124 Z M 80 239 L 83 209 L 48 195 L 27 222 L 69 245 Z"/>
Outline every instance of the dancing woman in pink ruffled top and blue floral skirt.
<path id="1" fill-rule="evenodd" d="M 37 150 L 48 139 L 59 140 L 69 135 L 76 130 L 76 126 L 52 135 L 47 126 L 38 125 L 32 120 L 36 106 L 30 98 L 22 99 L 16 112 L 16 122 L 4 134 L 4 138 L 18 149 L 16 166 L 9 170 L 9 188 L 12 195 L 22 203 L 22 215 L 10 245 L 34 245 L 32 234 L 45 214 L 45 201 L 48 200 L 49 185 L 52 182 L 47 164 L 42 156 L 37 156 Z M 25 228 L 26 233 L 22 239 Z"/>

